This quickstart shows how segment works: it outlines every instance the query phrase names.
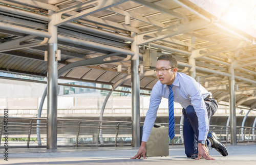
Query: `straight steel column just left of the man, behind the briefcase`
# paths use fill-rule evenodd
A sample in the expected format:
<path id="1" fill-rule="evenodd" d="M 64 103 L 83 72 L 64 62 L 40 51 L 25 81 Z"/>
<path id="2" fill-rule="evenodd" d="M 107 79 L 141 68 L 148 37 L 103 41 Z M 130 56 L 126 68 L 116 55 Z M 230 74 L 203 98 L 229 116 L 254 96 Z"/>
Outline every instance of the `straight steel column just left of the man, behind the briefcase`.
<path id="1" fill-rule="evenodd" d="M 139 46 L 137 46 L 137 34 L 132 32 L 135 38 L 132 42 L 132 51 L 135 55 L 132 59 L 132 147 L 140 147 L 140 76 L 139 76 Z"/>

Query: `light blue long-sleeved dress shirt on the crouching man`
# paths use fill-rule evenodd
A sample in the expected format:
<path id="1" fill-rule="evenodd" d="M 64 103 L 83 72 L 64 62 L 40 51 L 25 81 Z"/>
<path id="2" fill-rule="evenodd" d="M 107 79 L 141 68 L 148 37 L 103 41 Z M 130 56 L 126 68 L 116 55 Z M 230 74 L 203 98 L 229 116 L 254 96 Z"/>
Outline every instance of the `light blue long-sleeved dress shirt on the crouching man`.
<path id="1" fill-rule="evenodd" d="M 199 124 L 198 140 L 206 140 L 209 123 L 204 98 L 211 95 L 211 93 L 201 86 L 194 78 L 184 73 L 177 72 L 173 85 L 174 101 L 180 103 L 183 108 L 186 108 L 188 105 L 194 107 Z M 168 96 L 168 87 L 165 84 L 161 84 L 160 81 L 157 81 L 151 92 L 150 106 L 144 121 L 142 135 L 143 142 L 147 142 L 148 137 L 150 136 L 162 97 L 168 98 Z"/>

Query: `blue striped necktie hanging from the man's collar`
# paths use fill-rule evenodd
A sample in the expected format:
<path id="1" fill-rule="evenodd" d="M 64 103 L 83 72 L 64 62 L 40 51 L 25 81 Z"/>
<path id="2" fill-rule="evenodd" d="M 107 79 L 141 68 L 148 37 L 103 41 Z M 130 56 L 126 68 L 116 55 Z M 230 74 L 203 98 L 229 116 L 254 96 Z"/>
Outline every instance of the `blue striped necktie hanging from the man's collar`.
<path id="1" fill-rule="evenodd" d="M 167 85 L 169 88 L 170 94 L 168 97 L 168 107 L 169 107 L 169 137 L 170 139 L 174 138 L 174 94 L 173 88 L 174 85 Z"/>

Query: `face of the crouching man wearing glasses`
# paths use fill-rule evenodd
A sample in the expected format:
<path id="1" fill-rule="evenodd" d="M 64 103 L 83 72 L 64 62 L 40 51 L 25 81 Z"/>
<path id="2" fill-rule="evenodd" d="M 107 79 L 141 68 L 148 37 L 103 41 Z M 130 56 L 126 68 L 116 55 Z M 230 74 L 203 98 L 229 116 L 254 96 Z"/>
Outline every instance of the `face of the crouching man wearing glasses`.
<path id="1" fill-rule="evenodd" d="M 158 60 L 156 63 L 156 71 L 157 78 L 160 80 L 161 84 L 172 85 L 174 79 L 176 77 L 177 68 L 172 68 L 168 60 Z M 161 71 L 161 69 L 168 69 L 166 71 Z"/>

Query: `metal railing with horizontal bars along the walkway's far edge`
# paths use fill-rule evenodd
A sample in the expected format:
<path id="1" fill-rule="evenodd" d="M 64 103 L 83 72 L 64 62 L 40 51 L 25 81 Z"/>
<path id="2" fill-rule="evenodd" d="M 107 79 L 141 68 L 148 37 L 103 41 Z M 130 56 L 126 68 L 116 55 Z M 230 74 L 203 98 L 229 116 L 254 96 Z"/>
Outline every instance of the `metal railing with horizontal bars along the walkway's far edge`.
<path id="1" fill-rule="evenodd" d="M 40 120 L 40 123 L 37 123 Z M 47 143 L 46 118 L 8 118 L 0 117 L 0 147 L 4 146 L 5 132 L 8 132 L 8 147 L 45 147 Z M 156 123 L 168 126 L 168 123 Z M 141 126 L 143 123 L 141 123 Z M 6 126 L 6 127 L 5 127 Z M 175 138 L 169 140 L 170 145 L 183 144 L 183 125 L 175 124 Z M 38 130 L 39 136 L 38 136 Z M 219 140 L 230 143 L 229 126 L 211 125 Z M 237 127 L 237 142 L 254 142 L 255 127 Z M 71 146 L 131 146 L 132 122 L 99 121 L 79 119 L 58 119 L 58 147 Z"/>

